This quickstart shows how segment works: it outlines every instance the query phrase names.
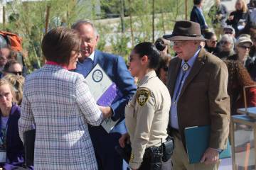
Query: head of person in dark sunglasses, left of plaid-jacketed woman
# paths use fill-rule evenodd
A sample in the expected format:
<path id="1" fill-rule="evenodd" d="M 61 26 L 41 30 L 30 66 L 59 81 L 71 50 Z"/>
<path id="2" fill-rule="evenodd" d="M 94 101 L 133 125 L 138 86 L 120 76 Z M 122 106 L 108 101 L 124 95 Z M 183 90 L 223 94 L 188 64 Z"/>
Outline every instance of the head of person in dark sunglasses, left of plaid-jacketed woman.
<path id="1" fill-rule="evenodd" d="M 22 76 L 22 66 L 16 60 L 10 60 L 4 65 L 4 76 L 6 74 L 14 74 L 16 76 Z"/>

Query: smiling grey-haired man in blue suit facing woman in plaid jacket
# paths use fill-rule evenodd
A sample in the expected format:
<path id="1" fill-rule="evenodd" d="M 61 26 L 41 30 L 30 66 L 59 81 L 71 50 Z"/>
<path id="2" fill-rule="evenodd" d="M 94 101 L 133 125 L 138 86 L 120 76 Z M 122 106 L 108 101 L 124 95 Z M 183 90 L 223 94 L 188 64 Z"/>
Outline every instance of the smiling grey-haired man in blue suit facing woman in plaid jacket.
<path id="1" fill-rule="evenodd" d="M 122 92 L 122 98 L 112 103 L 110 107 L 106 107 L 105 112 L 112 113 L 112 120 L 123 120 L 124 107 L 136 91 L 134 79 L 128 71 L 123 58 L 96 50 L 99 35 L 97 35 L 97 30 L 90 21 L 78 21 L 73 24 L 72 28 L 78 30 L 82 38 L 82 57 L 79 59 L 75 72 L 86 77 L 95 64 L 100 64 L 100 67 L 104 69 Z M 117 132 L 107 133 L 102 126 L 90 126 L 89 132 L 92 138 L 92 145 L 95 148 L 99 170 L 122 169 L 122 157 L 114 149 L 115 146 L 119 145 L 118 140 L 121 135 Z"/>

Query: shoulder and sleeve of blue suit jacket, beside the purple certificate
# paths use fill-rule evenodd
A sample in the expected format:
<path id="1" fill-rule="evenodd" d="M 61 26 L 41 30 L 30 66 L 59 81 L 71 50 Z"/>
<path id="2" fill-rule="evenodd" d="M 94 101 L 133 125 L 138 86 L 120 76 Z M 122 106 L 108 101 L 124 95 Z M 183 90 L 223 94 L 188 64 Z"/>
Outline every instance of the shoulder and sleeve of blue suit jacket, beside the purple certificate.
<path id="1" fill-rule="evenodd" d="M 127 69 L 127 65 L 121 56 L 111 55 L 100 50 L 95 50 L 93 64 L 99 64 L 107 75 L 117 84 L 123 94 L 116 102 L 110 106 L 113 111 L 112 120 L 120 121 L 124 119 L 124 107 L 136 92 L 134 78 Z"/>

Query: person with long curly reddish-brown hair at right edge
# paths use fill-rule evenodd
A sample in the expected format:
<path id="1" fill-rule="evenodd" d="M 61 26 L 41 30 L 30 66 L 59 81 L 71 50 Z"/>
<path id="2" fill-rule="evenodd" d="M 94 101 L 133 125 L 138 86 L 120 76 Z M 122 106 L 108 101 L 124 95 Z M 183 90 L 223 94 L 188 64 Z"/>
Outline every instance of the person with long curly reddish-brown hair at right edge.
<path id="1" fill-rule="evenodd" d="M 243 88 L 255 85 L 250 74 L 239 61 L 224 60 L 228 67 L 228 95 L 230 96 L 230 114 L 237 115 L 238 108 L 245 108 Z M 256 87 L 246 90 L 247 107 L 256 106 Z"/>

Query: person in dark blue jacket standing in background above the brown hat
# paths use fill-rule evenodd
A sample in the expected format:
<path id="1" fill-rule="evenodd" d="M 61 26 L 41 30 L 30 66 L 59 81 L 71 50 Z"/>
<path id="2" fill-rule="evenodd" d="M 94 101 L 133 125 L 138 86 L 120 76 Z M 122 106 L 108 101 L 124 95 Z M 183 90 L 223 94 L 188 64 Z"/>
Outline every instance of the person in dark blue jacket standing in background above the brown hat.
<path id="1" fill-rule="evenodd" d="M 206 18 L 203 16 L 203 0 L 193 0 L 193 9 L 191 11 L 191 21 L 199 23 L 201 28 L 201 33 L 205 33 L 208 29 Z"/>

